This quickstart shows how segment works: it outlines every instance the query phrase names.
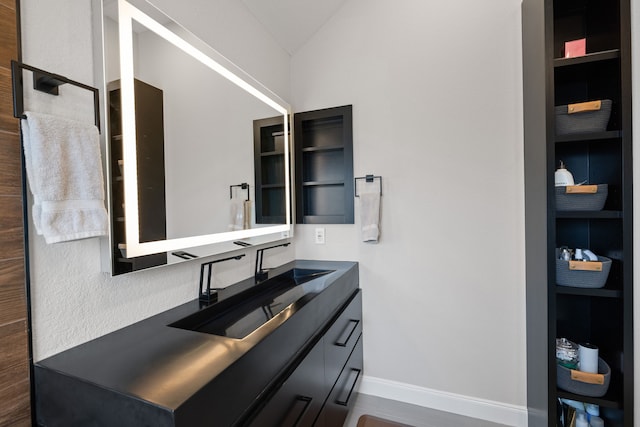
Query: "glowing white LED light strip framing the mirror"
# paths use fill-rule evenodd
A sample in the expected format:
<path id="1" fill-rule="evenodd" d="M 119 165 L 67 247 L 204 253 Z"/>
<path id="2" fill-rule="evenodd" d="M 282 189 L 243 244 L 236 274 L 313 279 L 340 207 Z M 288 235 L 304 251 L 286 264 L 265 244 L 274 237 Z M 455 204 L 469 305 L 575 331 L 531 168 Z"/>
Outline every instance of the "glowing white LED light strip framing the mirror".
<path id="1" fill-rule="evenodd" d="M 138 178 L 136 165 L 136 122 L 135 122 L 135 92 L 134 92 L 134 64 L 133 64 L 133 21 L 142 24 L 158 36 L 165 39 L 190 55 L 206 67 L 220 74 L 236 86 L 250 93 L 257 99 L 283 115 L 284 129 L 289 129 L 289 110 L 242 80 L 232 71 L 207 56 L 204 52 L 189 44 L 187 41 L 171 32 L 162 24 L 146 15 L 126 0 L 118 0 L 118 21 L 120 39 L 120 76 L 121 76 L 121 111 L 122 137 L 124 160 L 124 190 L 125 190 L 125 231 L 127 257 L 137 257 L 159 252 L 183 249 L 186 247 L 203 246 L 226 242 L 233 239 L 244 239 L 265 234 L 290 231 L 291 209 L 290 198 L 285 197 L 286 223 L 270 227 L 247 230 L 237 230 L 226 233 L 207 234 L 154 242 L 140 242 L 140 228 L 138 221 Z M 285 194 L 290 194 L 289 172 L 289 132 L 284 132 L 284 160 L 285 160 Z M 131 219 L 135 220 L 131 220 Z"/>

